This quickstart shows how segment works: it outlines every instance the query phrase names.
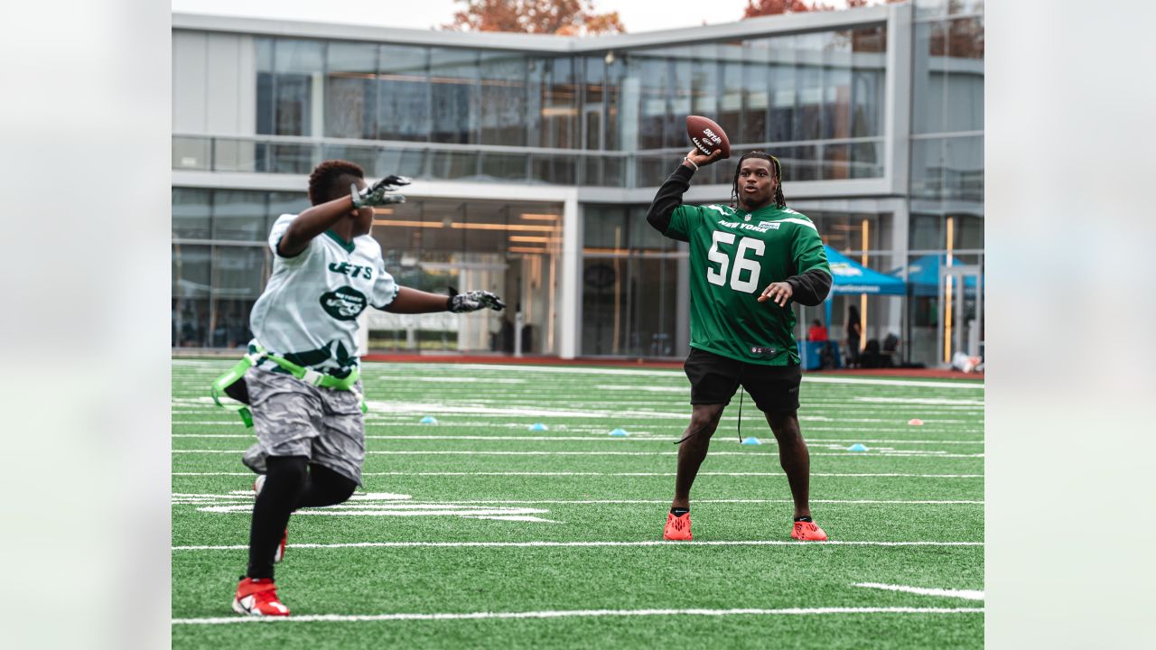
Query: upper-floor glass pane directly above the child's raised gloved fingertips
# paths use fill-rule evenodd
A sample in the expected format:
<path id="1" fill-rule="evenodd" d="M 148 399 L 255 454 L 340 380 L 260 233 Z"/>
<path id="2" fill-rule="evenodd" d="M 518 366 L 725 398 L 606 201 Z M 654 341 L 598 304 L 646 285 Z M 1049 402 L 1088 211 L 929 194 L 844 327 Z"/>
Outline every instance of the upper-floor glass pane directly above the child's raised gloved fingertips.
<path id="1" fill-rule="evenodd" d="M 430 134 L 429 51 L 383 45 L 379 54 L 378 139 L 424 142 Z"/>

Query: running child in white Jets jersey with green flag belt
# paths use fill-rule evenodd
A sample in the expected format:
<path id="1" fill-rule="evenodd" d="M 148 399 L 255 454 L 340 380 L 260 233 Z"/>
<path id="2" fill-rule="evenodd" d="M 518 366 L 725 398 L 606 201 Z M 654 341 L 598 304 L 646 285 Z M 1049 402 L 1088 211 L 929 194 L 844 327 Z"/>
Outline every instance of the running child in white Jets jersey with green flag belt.
<path id="1" fill-rule="evenodd" d="M 366 306 L 397 313 L 501 310 L 489 291 L 443 296 L 399 287 L 381 246 L 368 236 L 373 207 L 401 202 L 409 179 L 368 186 L 361 167 L 326 161 L 309 177 L 312 207 L 281 215 L 269 232 L 273 275 L 253 305 L 254 365 L 230 394 L 252 409 L 258 443 L 245 464 L 260 472 L 254 489 L 249 569 L 232 607 L 240 614 L 287 616 L 273 564 L 284 553 L 297 508 L 334 505 L 361 483 L 365 458 L 357 317 Z"/>

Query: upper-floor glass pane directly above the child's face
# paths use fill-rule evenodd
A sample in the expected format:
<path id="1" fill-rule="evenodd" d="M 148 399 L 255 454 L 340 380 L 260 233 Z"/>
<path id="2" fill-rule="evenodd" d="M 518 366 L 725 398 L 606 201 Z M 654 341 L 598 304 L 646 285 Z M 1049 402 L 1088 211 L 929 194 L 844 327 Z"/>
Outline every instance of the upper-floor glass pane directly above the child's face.
<path id="1" fill-rule="evenodd" d="M 377 134 L 377 46 L 329 43 L 325 76 L 325 134 L 369 140 Z"/>

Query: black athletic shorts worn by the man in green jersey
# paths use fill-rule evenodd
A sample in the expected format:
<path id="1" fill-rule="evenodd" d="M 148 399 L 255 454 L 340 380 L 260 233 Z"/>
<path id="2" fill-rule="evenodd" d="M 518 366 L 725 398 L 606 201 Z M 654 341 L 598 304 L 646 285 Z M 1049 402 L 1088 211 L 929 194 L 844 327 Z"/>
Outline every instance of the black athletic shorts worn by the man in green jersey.
<path id="1" fill-rule="evenodd" d="M 690 404 L 731 404 L 741 384 L 764 413 L 799 409 L 799 365 L 762 365 L 690 348 L 682 369 L 690 379 Z"/>

